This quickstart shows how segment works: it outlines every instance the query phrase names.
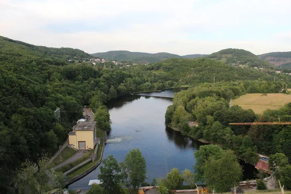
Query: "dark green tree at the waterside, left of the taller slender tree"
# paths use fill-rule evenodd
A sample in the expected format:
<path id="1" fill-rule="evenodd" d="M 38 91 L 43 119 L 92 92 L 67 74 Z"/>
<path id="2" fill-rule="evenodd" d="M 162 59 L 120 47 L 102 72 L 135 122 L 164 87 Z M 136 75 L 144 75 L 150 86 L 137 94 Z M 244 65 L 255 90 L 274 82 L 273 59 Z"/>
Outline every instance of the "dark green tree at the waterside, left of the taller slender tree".
<path id="1" fill-rule="evenodd" d="M 103 166 L 100 166 L 100 174 L 98 179 L 100 180 L 100 186 L 106 189 L 110 194 L 120 192 L 121 186 L 121 167 L 113 155 L 108 156 L 103 161 Z"/>

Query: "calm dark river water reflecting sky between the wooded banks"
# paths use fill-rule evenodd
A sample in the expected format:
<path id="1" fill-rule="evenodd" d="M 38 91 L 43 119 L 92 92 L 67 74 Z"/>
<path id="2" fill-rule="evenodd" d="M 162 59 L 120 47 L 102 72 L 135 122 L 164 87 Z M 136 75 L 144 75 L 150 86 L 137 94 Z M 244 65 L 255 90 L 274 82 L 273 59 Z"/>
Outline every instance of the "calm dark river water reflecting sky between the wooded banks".
<path id="1" fill-rule="evenodd" d="M 106 105 L 112 123 L 103 158 L 113 155 L 121 162 L 131 149 L 139 148 L 146 158 L 147 182 L 153 178 L 165 178 L 174 167 L 180 171 L 185 168 L 193 171 L 194 152 L 204 144 L 168 129 L 164 123 L 166 109 L 172 104 L 175 92 L 180 90 L 140 93 L 109 101 Z M 244 162 L 241 165 L 244 168 L 243 178 L 253 178 L 254 166 Z M 99 172 L 97 167 L 69 185 L 69 189 L 89 188 L 89 180 L 97 179 Z"/>

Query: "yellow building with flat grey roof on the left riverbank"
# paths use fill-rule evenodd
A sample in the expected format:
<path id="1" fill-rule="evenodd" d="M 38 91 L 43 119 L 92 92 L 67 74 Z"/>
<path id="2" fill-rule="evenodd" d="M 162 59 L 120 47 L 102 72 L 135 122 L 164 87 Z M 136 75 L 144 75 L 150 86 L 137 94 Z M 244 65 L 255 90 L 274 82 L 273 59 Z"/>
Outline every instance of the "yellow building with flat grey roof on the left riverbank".
<path id="1" fill-rule="evenodd" d="M 94 149 L 96 121 L 80 121 L 69 132 L 69 145 L 76 149 Z"/>

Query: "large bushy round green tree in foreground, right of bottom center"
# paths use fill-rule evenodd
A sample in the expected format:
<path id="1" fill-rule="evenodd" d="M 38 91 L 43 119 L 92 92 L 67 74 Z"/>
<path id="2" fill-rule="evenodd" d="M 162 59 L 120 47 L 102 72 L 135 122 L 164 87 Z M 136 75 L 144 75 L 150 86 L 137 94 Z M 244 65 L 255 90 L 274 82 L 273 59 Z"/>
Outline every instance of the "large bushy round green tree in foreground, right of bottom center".
<path id="1" fill-rule="evenodd" d="M 219 159 L 212 156 L 204 164 L 205 183 L 210 190 L 218 193 L 228 192 L 238 185 L 242 178 L 242 166 L 231 150 L 223 152 Z"/>

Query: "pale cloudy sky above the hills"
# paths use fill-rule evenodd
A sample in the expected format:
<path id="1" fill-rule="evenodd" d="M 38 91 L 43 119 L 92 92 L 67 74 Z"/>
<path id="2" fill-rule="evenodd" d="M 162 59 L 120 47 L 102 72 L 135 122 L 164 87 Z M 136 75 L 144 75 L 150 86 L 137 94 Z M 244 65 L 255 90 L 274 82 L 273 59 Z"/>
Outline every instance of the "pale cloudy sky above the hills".
<path id="1" fill-rule="evenodd" d="M 90 54 L 291 51 L 291 0 L 0 0 L 0 35 Z"/>

